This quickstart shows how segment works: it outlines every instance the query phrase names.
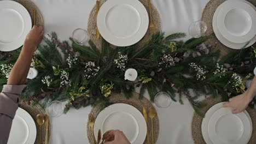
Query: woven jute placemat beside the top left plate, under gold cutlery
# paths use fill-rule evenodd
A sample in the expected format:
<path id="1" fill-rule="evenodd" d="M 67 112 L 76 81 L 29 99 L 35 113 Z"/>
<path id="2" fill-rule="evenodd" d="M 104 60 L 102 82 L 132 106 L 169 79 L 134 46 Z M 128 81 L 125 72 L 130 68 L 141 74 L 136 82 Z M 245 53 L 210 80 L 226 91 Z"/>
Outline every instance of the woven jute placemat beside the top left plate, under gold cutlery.
<path id="1" fill-rule="evenodd" d="M 20 3 L 27 9 L 28 13 L 30 13 L 32 23 L 33 23 L 33 10 L 35 9 L 36 10 L 36 25 L 44 26 L 43 16 L 42 16 L 40 10 L 37 8 L 36 4 L 34 4 L 30 0 L 13 0 L 13 1 Z"/>

